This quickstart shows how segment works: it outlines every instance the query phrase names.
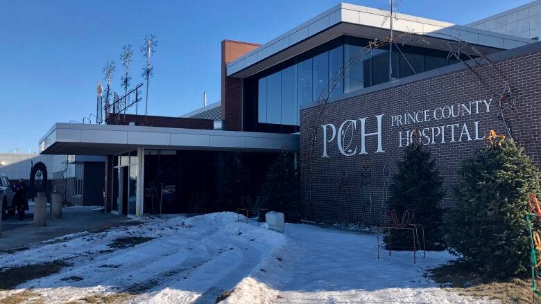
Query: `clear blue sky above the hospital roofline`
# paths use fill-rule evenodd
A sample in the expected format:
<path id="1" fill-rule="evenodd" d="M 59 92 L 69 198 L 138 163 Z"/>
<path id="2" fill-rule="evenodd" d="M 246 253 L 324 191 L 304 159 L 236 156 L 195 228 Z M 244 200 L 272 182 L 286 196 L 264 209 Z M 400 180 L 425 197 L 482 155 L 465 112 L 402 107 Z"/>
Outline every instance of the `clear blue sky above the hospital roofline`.
<path id="1" fill-rule="evenodd" d="M 386 0 L 346 1 L 373 8 Z M 455 24 L 529 1 L 402 0 L 399 11 Z M 115 60 L 121 91 L 122 46 L 132 44 L 132 84 L 142 81 L 142 38 L 158 40 L 148 114 L 179 116 L 220 99 L 220 43 L 263 44 L 331 8 L 329 0 L 0 2 L 0 152 L 35 152 L 55 122 L 95 112 L 96 82 Z"/>

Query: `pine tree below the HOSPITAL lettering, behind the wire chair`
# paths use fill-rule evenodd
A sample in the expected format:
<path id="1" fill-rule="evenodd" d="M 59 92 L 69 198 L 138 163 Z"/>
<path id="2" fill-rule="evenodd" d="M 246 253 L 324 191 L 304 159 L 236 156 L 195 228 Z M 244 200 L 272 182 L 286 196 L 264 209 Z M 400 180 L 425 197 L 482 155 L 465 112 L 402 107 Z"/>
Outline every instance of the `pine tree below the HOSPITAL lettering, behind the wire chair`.
<path id="1" fill-rule="evenodd" d="M 429 250 L 443 250 L 445 247 L 440 230 L 443 211 L 439 204 L 445 195 L 442 184 L 443 178 L 440 177 L 436 161 L 431 158 L 430 151 L 415 138 L 413 143 L 405 148 L 404 158 L 397 161 L 397 172 L 389 185 L 387 203 L 390 210 L 396 211 L 399 220 L 406 209 L 413 213 L 412 223 L 424 226 L 426 246 Z M 400 238 L 393 239 L 393 243 L 402 239 L 404 244 L 411 247 L 409 233 L 400 233 Z"/>

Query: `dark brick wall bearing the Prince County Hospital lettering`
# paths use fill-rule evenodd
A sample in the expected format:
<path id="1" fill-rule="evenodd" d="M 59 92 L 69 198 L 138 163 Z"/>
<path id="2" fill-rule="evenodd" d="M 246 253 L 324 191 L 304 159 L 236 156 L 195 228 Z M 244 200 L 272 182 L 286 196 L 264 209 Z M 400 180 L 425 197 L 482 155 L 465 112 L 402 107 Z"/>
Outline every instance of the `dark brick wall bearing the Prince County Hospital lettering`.
<path id="1" fill-rule="evenodd" d="M 501 75 L 490 66 L 474 69 L 482 81 L 469 69 L 463 69 L 332 102 L 323 109 L 320 118 L 318 118 L 320 107 L 303 109 L 300 113 L 300 161 L 302 204 L 306 208 L 306 216 L 311 220 L 325 222 L 358 222 L 364 217 L 367 224 L 378 224 L 381 221 L 381 210 L 385 201 L 384 189 L 390 181 L 384 178 L 384 167 L 387 164 L 393 168 L 393 171 L 396 170 L 395 162 L 402 157 L 403 153 L 403 147 L 399 147 L 399 132 L 458 123 L 460 129 L 455 132 L 455 142 L 449 142 L 451 141 L 451 127 L 448 127 L 445 129 L 446 143 L 440 143 L 440 137 L 436 136 L 437 143 L 427 145 L 445 179 L 444 187 L 447 195 L 442 207 L 453 206 L 451 188 L 456 182 L 456 172 L 461 161 L 474 157 L 476 150 L 487 145 L 486 139 L 465 141 L 466 136 L 463 136 L 463 141 L 458 141 L 463 123 L 467 124 L 472 139 L 475 121 L 479 121 L 480 137 L 485 134 L 488 136 L 490 129 L 495 129 L 498 134 L 507 135 L 508 133 L 504 123 L 498 117 L 497 98 L 504 91 L 503 78 L 509 80 L 510 87 L 519 93 L 520 98 L 515 103 L 517 114 L 510 114 L 508 107 L 501 108 L 510 120 L 515 139 L 524 144 L 526 153 L 533 157 L 539 166 L 536 153 L 537 150 L 541 151 L 539 144 L 541 139 L 536 141 L 533 135 L 538 136 L 541 127 L 541 52 L 536 51 L 495 62 L 495 67 Z M 490 98 L 493 99 L 488 113 L 485 111 L 484 104 L 481 103 L 479 114 L 441 120 L 434 120 L 431 117 L 431 121 L 428 122 L 391 126 L 392 116 L 397 114 L 429 110 L 429 115 L 433 116 L 433 111 L 438 107 L 454 105 L 456 111 L 459 104 Z M 361 123 L 358 119 L 366 117 L 366 133 L 372 133 L 377 131 L 375 115 L 380 114 L 384 114 L 381 128 L 385 152 L 375 153 L 377 136 L 368 136 L 366 137 L 368 154 L 359 155 Z M 357 153 L 349 157 L 342 155 L 338 151 L 335 138 L 332 143 L 327 143 L 329 157 L 322 157 L 323 127 L 321 126 L 333 123 L 338 137 L 338 128 L 343 121 L 348 119 L 357 119 L 357 129 L 351 132 L 352 128 L 350 128 L 345 132 L 347 143 L 353 134 L 350 149 L 354 150 L 357 145 Z M 311 122 L 316 122 L 313 125 L 317 127 L 313 150 Z M 332 135 L 330 130 L 328 135 Z M 311 151 L 314 151 L 312 158 Z M 370 166 L 369 187 L 361 188 L 361 166 Z M 342 178 L 345 173 L 347 173 L 347 179 Z M 343 181 L 347 181 L 347 186 L 341 186 Z M 310 197 L 311 203 L 309 203 Z"/>

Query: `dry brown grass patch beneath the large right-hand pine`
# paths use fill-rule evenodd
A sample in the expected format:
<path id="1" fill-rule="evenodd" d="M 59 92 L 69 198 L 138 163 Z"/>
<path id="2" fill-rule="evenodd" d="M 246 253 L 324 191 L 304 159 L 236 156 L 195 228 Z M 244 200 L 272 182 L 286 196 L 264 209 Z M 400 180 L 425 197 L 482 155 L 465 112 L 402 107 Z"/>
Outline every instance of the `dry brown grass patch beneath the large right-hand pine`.
<path id="1" fill-rule="evenodd" d="M 532 303 L 531 278 L 496 279 L 472 271 L 460 262 L 431 269 L 429 277 L 437 283 L 452 287 L 463 296 L 499 300 L 503 304 Z M 538 296 L 535 296 L 538 301 Z"/>

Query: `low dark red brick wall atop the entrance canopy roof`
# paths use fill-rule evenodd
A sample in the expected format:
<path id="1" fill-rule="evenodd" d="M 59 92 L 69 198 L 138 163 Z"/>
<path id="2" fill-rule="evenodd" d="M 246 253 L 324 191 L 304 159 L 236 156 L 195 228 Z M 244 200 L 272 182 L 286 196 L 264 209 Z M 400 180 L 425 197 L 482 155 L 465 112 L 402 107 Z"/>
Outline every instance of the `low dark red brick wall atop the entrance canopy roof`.
<path id="1" fill-rule="evenodd" d="M 108 120 L 108 124 L 111 125 L 129 125 L 131 122 L 135 122 L 135 115 L 126 114 L 126 118 L 123 114 L 117 116 L 116 121 Z M 180 117 L 167 117 L 167 116 L 146 116 L 146 125 L 149 127 L 178 127 L 184 129 L 213 129 L 214 121 L 211 119 L 199 119 L 199 118 L 180 118 Z M 137 116 L 137 125 L 144 125 L 145 116 Z"/>

